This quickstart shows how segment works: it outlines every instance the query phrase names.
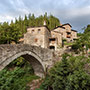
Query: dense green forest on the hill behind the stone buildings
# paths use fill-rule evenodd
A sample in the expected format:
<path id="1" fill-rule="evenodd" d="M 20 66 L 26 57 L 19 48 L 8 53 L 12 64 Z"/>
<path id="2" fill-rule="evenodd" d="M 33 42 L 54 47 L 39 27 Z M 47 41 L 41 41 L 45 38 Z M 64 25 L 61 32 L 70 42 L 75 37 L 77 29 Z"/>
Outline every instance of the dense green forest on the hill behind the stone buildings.
<path id="1" fill-rule="evenodd" d="M 0 44 L 10 44 L 12 41 L 18 43 L 27 27 L 42 26 L 44 21 L 50 30 L 60 25 L 58 18 L 53 15 L 47 16 L 47 13 L 39 17 L 35 17 L 34 14 L 25 15 L 24 19 L 19 16 L 15 22 L 12 20 L 10 24 L 8 22 L 0 24 Z"/>

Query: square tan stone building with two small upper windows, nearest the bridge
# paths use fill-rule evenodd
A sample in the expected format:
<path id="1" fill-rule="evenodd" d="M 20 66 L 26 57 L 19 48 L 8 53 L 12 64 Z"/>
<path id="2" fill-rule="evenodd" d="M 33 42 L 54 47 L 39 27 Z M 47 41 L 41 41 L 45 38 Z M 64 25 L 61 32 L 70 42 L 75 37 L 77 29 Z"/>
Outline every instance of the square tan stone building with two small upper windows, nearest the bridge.
<path id="1" fill-rule="evenodd" d="M 27 29 L 27 33 L 24 34 L 24 44 L 49 48 L 50 36 L 51 33 L 47 26 L 30 27 Z"/>

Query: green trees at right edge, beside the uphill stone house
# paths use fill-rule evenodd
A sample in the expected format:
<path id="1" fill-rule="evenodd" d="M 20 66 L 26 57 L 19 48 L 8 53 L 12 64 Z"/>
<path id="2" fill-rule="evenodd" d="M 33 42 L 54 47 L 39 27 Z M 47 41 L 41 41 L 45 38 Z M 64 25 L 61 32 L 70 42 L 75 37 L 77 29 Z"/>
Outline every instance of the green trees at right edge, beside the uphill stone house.
<path id="1" fill-rule="evenodd" d="M 72 45 L 72 49 L 76 52 L 86 51 L 90 48 L 90 25 L 87 26 L 83 34 L 80 34 L 79 39 Z"/>

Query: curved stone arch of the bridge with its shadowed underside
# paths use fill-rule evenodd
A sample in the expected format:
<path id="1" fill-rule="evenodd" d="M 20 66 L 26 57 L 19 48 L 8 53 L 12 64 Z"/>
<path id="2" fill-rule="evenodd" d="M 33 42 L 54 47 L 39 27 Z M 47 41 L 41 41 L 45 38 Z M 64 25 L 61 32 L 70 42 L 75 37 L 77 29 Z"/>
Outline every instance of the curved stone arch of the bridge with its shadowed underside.
<path id="1" fill-rule="evenodd" d="M 44 76 L 45 65 L 42 62 L 43 60 L 38 55 L 36 55 L 35 53 L 31 51 L 23 51 L 23 52 L 21 51 L 8 57 L 6 60 L 4 60 L 2 64 L 2 69 L 5 68 L 8 64 L 10 64 L 12 61 L 14 61 L 16 58 L 20 56 L 23 56 L 26 60 L 28 60 L 31 63 L 34 69 L 34 73 L 37 76 L 40 76 L 40 77 Z"/>

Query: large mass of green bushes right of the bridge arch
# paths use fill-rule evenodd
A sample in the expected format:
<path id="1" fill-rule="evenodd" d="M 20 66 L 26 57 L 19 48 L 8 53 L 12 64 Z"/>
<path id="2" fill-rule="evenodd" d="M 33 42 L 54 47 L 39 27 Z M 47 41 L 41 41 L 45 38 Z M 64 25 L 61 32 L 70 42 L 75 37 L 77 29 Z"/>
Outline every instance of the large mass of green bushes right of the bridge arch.
<path id="1" fill-rule="evenodd" d="M 87 63 L 90 58 L 63 55 L 37 90 L 90 90 L 90 74 L 85 71 Z"/>

